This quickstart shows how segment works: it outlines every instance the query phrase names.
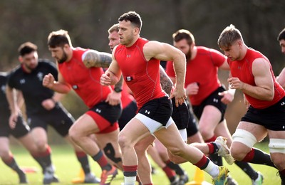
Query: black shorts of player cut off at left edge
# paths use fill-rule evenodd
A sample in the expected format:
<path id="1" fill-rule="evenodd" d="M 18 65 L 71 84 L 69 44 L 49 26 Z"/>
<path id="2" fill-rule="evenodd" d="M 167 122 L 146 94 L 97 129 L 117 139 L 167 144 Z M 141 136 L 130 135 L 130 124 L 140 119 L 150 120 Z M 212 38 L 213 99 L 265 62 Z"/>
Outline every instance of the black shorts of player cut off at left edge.
<path id="1" fill-rule="evenodd" d="M 30 128 L 28 125 L 26 125 L 26 122 L 24 122 L 23 117 L 19 116 L 16 122 L 16 127 L 14 129 L 11 129 L 9 126 L 10 112 L 6 112 L 6 114 L 3 113 L 4 112 L 1 112 L 0 114 L 0 137 L 9 137 L 12 135 L 16 138 L 19 138 L 28 134 Z"/>

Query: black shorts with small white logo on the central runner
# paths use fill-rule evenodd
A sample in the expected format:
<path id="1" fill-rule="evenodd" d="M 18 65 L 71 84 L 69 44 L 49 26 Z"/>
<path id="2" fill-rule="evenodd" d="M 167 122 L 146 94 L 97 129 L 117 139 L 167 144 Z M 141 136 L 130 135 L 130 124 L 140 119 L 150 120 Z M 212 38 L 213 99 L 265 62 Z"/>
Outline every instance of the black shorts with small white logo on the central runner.
<path id="1" fill-rule="evenodd" d="M 146 102 L 138 113 L 160 122 L 162 126 L 166 126 L 172 115 L 172 103 L 167 96 L 160 97 Z"/>

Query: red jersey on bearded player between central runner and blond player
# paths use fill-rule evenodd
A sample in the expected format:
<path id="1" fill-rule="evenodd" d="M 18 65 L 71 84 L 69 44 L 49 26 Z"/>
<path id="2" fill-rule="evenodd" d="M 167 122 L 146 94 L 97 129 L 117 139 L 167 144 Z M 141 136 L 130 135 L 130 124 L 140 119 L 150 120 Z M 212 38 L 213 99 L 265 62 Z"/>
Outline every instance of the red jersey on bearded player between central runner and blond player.
<path id="1" fill-rule="evenodd" d="M 226 60 L 225 56 L 217 50 L 197 46 L 197 55 L 186 64 L 185 88 L 190 83 L 198 83 L 197 95 L 190 95 L 192 105 L 200 105 L 202 101 L 217 90 L 221 83 L 218 78 L 218 68 Z M 173 63 L 167 62 L 166 73 L 175 78 Z"/>

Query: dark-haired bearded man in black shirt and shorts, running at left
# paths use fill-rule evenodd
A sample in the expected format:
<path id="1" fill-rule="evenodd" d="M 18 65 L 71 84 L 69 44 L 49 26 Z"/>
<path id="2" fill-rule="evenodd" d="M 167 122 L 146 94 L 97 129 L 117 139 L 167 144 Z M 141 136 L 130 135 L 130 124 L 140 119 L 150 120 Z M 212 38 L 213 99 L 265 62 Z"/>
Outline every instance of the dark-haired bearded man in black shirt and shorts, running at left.
<path id="1" fill-rule="evenodd" d="M 28 125 L 38 151 L 41 152 L 41 167 L 43 168 L 43 184 L 51 184 L 58 179 L 54 175 L 51 162 L 51 148 L 48 146 L 47 127 L 50 125 L 58 134 L 70 142 L 76 152 L 76 157 L 85 172 L 86 183 L 98 183 L 99 180 L 90 172 L 87 155 L 68 136 L 68 130 L 73 125 L 74 119 L 61 105 L 62 95 L 43 87 L 43 76 L 48 73 L 58 75 L 56 66 L 49 60 L 38 59 L 37 46 L 33 43 L 23 43 L 19 47 L 19 60 L 21 65 L 14 68 L 9 75 L 6 96 L 11 107 L 9 124 L 13 128 L 19 116 L 19 107 L 16 106 L 16 98 L 13 90 L 21 93 L 25 100 Z"/>

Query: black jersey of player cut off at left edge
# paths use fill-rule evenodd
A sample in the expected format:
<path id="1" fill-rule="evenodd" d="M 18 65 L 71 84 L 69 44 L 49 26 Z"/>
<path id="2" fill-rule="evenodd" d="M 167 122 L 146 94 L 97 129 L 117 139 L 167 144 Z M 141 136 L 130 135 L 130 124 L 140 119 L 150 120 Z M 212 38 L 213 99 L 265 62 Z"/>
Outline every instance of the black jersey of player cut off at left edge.
<path id="1" fill-rule="evenodd" d="M 9 103 L 6 99 L 6 83 L 7 83 L 7 73 L 0 73 L 0 115 L 1 112 L 10 112 Z M 5 110 L 5 111 L 4 111 Z"/>

